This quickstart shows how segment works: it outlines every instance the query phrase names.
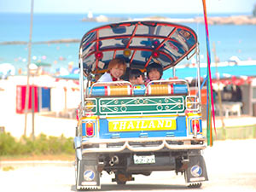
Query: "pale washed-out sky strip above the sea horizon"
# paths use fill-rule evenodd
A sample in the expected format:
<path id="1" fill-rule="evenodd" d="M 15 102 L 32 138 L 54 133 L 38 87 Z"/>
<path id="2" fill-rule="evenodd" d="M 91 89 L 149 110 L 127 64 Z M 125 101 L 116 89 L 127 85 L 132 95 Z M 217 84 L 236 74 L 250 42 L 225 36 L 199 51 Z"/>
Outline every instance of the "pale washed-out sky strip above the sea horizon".
<path id="1" fill-rule="evenodd" d="M 256 0 L 206 0 L 207 13 L 252 13 Z M 0 13 L 29 13 L 31 0 L 0 0 Z M 202 13 L 202 0 L 34 0 L 34 13 Z"/>

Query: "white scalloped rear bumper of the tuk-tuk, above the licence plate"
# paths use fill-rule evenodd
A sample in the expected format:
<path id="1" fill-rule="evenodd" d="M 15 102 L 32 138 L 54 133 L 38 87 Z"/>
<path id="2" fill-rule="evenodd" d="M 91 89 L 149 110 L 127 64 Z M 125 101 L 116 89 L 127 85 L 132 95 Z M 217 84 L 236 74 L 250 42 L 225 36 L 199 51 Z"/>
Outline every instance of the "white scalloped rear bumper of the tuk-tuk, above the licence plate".
<path id="1" fill-rule="evenodd" d="M 173 138 L 118 138 L 90 139 L 82 141 L 82 154 L 114 153 L 129 150 L 131 152 L 152 152 L 161 149 L 189 150 L 207 148 L 206 138 L 173 137 Z"/>

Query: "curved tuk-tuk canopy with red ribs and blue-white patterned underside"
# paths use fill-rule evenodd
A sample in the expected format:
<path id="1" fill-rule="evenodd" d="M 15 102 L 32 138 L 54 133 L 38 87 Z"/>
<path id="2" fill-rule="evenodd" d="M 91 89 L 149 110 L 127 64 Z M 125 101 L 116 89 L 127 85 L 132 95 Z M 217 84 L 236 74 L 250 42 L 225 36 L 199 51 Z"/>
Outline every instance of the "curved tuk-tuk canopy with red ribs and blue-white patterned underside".
<path id="1" fill-rule="evenodd" d="M 188 26 L 162 21 L 126 21 L 100 26 L 82 38 L 79 57 L 85 75 L 104 73 L 113 58 L 144 70 L 151 62 L 164 70 L 177 65 L 195 49 L 197 37 Z"/>

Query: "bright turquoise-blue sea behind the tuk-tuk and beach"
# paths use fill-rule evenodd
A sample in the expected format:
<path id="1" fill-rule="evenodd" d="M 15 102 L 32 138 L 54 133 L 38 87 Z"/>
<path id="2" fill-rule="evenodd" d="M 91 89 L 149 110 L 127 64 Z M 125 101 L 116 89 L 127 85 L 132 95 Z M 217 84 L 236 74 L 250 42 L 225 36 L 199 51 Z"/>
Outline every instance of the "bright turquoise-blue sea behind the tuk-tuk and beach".
<path id="1" fill-rule="evenodd" d="M 105 15 L 105 14 L 102 14 Z M 83 22 L 84 14 L 34 14 L 32 42 L 56 39 L 80 39 L 85 32 L 106 23 Z M 97 16 L 97 15 L 94 15 Z M 143 18 L 154 15 L 106 15 L 109 17 Z M 163 15 L 170 18 L 194 18 L 202 15 Z M 211 15 L 208 15 L 208 17 Z M 212 15 L 216 16 L 216 15 Z M 227 16 L 227 15 L 218 15 Z M 201 49 L 201 62 L 207 62 L 205 26 L 199 23 L 188 23 L 197 32 Z M 29 41 L 30 14 L 0 14 L 0 43 L 7 41 Z M 232 55 L 241 60 L 256 60 L 256 26 L 254 25 L 209 25 L 210 46 L 215 44 L 219 61 L 228 61 Z M 211 52 L 212 61 L 214 54 Z M 16 70 L 26 71 L 28 49 L 25 44 L 0 44 L 0 64 L 11 63 Z M 47 69 L 55 73 L 60 67 L 73 67 L 79 62 L 79 43 L 72 44 L 32 44 L 32 62 L 50 63 Z"/>

